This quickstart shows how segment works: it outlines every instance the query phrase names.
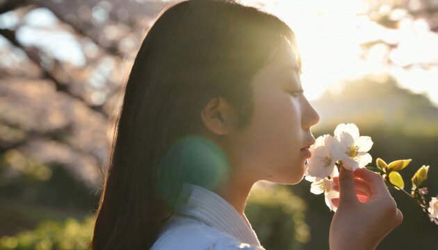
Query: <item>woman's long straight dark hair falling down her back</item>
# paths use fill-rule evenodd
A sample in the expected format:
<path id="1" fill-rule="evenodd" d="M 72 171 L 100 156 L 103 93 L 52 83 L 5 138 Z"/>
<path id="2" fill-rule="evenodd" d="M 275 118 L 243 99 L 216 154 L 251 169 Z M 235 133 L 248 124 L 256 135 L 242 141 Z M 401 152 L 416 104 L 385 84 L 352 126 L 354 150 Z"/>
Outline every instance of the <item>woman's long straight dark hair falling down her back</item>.
<path id="1" fill-rule="evenodd" d="M 252 77 L 280 39 L 301 66 L 291 28 L 263 10 L 234 0 L 188 0 L 159 13 L 122 92 L 92 249 L 152 247 L 188 182 L 179 178 L 181 165 L 172 165 L 173 179 L 161 174 L 165 190 L 157 191 L 165 153 L 201 128 L 201 110 L 216 97 L 235 108 L 240 129 L 248 126 Z"/>

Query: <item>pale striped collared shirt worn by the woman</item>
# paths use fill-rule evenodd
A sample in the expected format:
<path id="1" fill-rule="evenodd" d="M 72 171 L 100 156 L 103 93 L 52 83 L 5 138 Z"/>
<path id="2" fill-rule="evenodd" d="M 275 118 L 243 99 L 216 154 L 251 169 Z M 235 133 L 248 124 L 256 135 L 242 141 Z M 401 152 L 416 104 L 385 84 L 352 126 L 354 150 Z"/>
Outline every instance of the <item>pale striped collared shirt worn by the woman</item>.
<path id="1" fill-rule="evenodd" d="M 265 250 L 243 216 L 215 192 L 184 183 L 175 213 L 163 222 L 151 250 Z"/>

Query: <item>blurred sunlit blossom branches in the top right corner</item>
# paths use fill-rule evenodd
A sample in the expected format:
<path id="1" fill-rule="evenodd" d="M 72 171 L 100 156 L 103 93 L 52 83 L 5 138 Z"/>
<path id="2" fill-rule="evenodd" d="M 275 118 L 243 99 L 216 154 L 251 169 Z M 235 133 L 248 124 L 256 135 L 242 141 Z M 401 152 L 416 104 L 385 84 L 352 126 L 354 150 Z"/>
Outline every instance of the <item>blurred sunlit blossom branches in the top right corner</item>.
<path id="1" fill-rule="evenodd" d="M 358 15 L 368 17 L 371 21 L 375 22 L 382 29 L 388 31 L 401 32 L 402 28 L 411 24 L 416 20 L 423 20 L 424 26 L 421 27 L 424 35 L 427 32 L 438 32 L 438 2 L 434 0 L 364 0 L 362 1 L 362 11 Z M 366 30 L 364 29 L 364 32 Z M 412 40 L 406 41 L 400 39 L 401 36 L 393 35 L 369 35 L 369 40 L 362 44 L 362 58 L 366 59 L 371 56 L 373 47 L 382 48 L 387 51 L 387 63 L 390 65 L 396 65 L 403 67 L 404 69 L 412 69 L 412 67 L 421 67 L 423 69 L 430 69 L 431 67 L 438 66 L 436 60 L 418 60 L 415 53 L 417 51 L 407 51 L 405 48 L 406 42 L 418 42 L 417 40 L 421 35 L 413 31 Z M 400 46 L 401 44 L 401 46 Z M 423 48 L 419 49 L 430 49 Z M 396 53 L 403 53 L 405 56 L 409 56 L 409 60 L 400 60 Z"/>

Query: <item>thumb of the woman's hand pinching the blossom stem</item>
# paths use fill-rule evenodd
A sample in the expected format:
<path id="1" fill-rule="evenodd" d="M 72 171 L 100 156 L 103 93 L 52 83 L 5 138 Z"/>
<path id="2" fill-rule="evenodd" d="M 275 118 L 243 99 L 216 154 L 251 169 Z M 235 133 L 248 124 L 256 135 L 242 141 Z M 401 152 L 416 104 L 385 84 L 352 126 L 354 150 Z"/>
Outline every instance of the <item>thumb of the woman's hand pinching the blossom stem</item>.
<path id="1" fill-rule="evenodd" d="M 355 189 L 355 174 L 341 164 L 339 169 L 339 205 L 359 202 Z"/>

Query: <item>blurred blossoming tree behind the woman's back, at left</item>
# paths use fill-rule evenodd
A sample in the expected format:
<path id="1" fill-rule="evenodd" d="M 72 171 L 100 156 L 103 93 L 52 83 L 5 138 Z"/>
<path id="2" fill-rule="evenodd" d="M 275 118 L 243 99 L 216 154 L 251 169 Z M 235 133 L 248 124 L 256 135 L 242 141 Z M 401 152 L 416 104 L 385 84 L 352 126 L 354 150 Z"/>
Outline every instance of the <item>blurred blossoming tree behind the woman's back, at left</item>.
<path id="1" fill-rule="evenodd" d="M 77 217 L 97 208 L 125 69 L 166 5 L 0 1 L 0 211 L 31 203 Z M 1 217 L 3 234 L 38 222 Z"/>

